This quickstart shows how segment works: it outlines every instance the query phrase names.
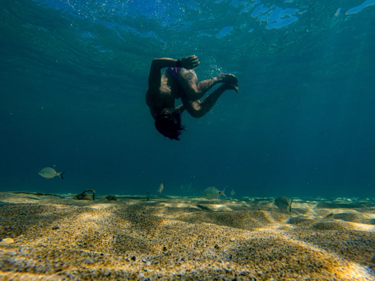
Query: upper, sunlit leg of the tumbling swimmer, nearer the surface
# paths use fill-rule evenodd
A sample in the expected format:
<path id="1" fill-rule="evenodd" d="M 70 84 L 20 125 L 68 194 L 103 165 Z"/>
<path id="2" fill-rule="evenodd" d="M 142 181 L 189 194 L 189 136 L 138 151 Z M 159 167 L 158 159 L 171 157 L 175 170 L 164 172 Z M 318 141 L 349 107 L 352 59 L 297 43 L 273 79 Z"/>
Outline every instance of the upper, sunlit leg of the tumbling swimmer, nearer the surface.
<path id="1" fill-rule="evenodd" d="M 178 72 L 178 81 L 190 101 L 199 100 L 217 83 L 228 83 L 238 85 L 238 79 L 232 74 L 221 73 L 218 76 L 201 81 L 198 83 L 198 77 L 193 69 L 187 70 L 181 68 Z"/>

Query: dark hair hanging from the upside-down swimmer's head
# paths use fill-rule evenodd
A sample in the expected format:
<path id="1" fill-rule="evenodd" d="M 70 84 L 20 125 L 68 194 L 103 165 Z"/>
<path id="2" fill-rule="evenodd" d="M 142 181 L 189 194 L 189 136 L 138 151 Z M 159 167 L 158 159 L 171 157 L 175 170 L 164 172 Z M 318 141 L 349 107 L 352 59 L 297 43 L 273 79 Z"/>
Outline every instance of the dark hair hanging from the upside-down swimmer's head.
<path id="1" fill-rule="evenodd" d="M 155 128 L 157 128 L 158 132 L 162 135 L 179 141 L 179 135 L 182 133 L 182 130 L 185 130 L 185 126 L 181 125 L 180 111 L 158 115 L 155 118 Z"/>

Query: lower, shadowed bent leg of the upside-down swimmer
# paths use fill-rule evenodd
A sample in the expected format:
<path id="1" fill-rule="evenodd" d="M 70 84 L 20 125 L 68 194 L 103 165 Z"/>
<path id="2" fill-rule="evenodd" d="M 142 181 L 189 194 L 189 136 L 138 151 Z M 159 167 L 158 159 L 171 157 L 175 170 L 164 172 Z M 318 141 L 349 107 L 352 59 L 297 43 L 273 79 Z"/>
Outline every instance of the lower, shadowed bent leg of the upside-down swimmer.
<path id="1" fill-rule="evenodd" d="M 226 91 L 226 90 L 235 90 L 239 92 L 238 87 L 234 84 L 224 84 L 214 90 L 211 94 L 206 96 L 202 101 L 187 100 L 186 97 L 181 98 L 184 108 L 187 112 L 190 113 L 194 118 L 200 118 L 209 112 L 213 105 L 216 103 L 217 99 Z"/>

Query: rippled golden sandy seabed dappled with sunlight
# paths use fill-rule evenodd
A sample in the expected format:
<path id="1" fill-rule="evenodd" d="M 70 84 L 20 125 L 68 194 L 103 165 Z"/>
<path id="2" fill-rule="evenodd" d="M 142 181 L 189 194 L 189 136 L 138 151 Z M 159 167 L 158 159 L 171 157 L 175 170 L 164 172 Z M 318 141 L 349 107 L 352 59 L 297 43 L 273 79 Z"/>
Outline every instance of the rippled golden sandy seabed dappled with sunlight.
<path id="1" fill-rule="evenodd" d="M 375 280 L 374 199 L 72 197 L 0 192 L 0 280 Z"/>

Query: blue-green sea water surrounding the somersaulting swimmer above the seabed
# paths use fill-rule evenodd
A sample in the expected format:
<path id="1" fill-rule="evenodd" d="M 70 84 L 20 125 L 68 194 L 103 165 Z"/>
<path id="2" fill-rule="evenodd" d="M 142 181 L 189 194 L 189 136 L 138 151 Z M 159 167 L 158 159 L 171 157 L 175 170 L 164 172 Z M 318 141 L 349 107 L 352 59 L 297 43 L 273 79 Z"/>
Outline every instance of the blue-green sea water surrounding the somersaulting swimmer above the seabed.
<path id="1" fill-rule="evenodd" d="M 374 4 L 2 1 L 0 190 L 375 196 Z M 233 73 L 240 93 L 183 113 L 171 141 L 148 71 L 189 55 L 199 80 Z"/>

